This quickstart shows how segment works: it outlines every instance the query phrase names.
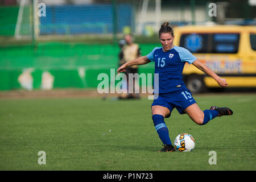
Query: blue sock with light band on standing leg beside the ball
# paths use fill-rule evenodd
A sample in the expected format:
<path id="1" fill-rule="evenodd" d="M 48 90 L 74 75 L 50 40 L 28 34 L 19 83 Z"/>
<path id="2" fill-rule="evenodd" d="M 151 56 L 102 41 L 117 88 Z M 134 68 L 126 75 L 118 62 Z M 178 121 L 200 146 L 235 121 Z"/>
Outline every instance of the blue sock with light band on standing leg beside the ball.
<path id="1" fill-rule="evenodd" d="M 164 123 L 163 115 L 154 114 L 152 115 L 154 121 L 155 129 L 159 135 L 159 138 L 162 140 L 163 144 L 172 144 L 169 131 L 167 129 L 166 123 Z"/>

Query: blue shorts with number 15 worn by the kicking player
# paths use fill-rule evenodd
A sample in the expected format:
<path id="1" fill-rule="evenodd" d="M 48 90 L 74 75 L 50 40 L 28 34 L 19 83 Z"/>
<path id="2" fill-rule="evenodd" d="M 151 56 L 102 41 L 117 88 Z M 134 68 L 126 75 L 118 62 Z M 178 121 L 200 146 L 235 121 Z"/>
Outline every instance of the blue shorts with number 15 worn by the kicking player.
<path id="1" fill-rule="evenodd" d="M 184 110 L 195 103 L 196 101 L 189 90 L 181 90 L 172 93 L 159 94 L 158 98 L 153 101 L 151 107 L 156 105 L 167 107 L 170 110 L 170 114 L 167 116 L 168 118 L 174 108 L 176 108 L 180 114 L 185 114 Z"/>

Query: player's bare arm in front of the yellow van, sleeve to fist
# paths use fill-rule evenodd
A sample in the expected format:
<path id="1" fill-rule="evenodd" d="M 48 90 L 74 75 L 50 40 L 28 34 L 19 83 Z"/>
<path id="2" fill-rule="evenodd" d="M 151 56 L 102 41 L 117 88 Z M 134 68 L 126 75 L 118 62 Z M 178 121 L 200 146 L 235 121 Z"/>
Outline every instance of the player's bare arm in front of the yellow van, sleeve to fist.
<path id="1" fill-rule="evenodd" d="M 207 75 L 211 76 L 218 83 L 218 85 L 222 87 L 228 86 L 225 78 L 221 78 L 216 75 L 216 73 L 214 73 L 210 68 L 208 68 L 205 64 L 201 63 L 199 60 L 195 60 L 192 64 Z"/>

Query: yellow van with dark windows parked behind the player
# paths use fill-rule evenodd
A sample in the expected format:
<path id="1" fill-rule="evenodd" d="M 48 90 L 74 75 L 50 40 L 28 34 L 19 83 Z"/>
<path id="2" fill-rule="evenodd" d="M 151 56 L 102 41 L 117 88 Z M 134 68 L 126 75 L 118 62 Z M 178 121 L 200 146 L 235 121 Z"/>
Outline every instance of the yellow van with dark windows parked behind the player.
<path id="1" fill-rule="evenodd" d="M 256 26 L 183 26 L 174 28 L 174 44 L 187 48 L 229 87 L 256 87 Z M 218 87 L 213 78 L 185 64 L 184 82 L 193 93 Z"/>

